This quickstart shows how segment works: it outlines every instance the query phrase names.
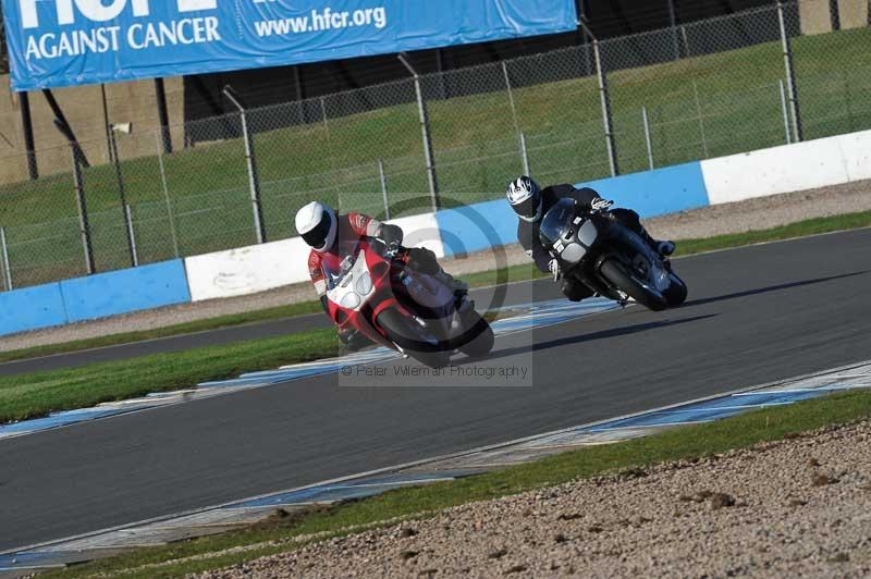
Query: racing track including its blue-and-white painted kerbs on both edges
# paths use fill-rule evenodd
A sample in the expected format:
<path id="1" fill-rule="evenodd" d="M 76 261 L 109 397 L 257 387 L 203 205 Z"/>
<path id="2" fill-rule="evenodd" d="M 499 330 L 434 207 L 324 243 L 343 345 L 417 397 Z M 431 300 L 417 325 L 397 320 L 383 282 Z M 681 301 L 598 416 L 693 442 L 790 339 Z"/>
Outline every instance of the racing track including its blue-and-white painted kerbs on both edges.
<path id="1" fill-rule="evenodd" d="M 433 375 L 376 352 L 0 440 L 4 464 L 29 465 L 4 481 L 0 568 L 867 387 L 870 242 L 857 230 L 679 259 L 690 298 L 661 313 L 582 310 L 549 281 L 515 284 L 515 312 L 473 371 Z M 60 493 L 62 480 L 77 484 Z"/>

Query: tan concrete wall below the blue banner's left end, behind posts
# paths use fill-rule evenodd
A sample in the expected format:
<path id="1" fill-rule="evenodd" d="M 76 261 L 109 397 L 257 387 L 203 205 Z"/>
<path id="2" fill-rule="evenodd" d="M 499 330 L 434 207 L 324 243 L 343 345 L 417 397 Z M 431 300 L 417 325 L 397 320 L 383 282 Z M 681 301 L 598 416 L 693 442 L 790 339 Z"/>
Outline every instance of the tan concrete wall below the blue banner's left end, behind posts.
<path id="1" fill-rule="evenodd" d="M 167 107 L 172 137 L 181 145 L 184 139 L 184 88 L 181 78 L 168 78 Z M 100 85 L 52 90 L 82 144 L 91 164 L 109 161 Z M 28 178 L 21 123 L 21 101 L 9 88 L 9 75 L 0 75 L 0 184 Z M 106 85 L 107 113 L 110 123 L 133 123 L 134 133 L 119 138 L 122 158 L 156 155 L 157 144 L 151 131 L 160 126 L 157 95 L 152 81 Z M 54 114 L 41 93 L 30 93 L 30 114 L 40 175 L 70 171 L 70 150 L 66 140 L 54 127 Z"/>

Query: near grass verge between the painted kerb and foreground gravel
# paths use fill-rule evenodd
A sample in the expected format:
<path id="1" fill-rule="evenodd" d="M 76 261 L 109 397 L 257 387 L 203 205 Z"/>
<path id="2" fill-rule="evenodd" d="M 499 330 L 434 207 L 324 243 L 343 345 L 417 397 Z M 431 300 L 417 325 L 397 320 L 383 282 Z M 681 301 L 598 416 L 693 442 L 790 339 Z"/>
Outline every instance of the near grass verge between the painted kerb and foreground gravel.
<path id="1" fill-rule="evenodd" d="M 222 535 L 143 549 L 47 577 L 179 577 L 292 551 L 312 533 L 348 534 L 398 517 L 426 517 L 452 506 L 629 468 L 746 448 L 871 415 L 871 392 L 855 391 L 772 407 L 708 424 L 678 428 L 613 445 L 590 446 L 467 479 L 403 489 L 297 518 Z M 300 541 L 302 539 L 302 541 Z M 242 549 L 240 549 L 242 547 Z M 226 550 L 236 549 L 228 553 Z"/>

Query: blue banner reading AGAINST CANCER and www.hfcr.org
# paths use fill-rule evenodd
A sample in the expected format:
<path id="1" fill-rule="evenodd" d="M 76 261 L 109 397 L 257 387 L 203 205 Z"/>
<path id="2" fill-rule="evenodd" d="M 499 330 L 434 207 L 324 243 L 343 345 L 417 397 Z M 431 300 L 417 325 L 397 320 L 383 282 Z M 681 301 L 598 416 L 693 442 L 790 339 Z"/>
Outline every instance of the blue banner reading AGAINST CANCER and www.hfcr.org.
<path id="1" fill-rule="evenodd" d="M 15 90 L 573 30 L 574 0 L 2 0 Z"/>

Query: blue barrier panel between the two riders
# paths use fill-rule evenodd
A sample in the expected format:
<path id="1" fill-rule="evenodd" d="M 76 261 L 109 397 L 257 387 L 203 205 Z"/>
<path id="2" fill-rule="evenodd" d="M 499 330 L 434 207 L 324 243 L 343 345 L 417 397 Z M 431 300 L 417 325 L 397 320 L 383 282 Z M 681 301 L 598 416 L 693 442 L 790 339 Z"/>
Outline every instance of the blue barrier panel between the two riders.
<path id="1" fill-rule="evenodd" d="M 436 213 L 445 257 L 517 243 L 517 215 L 504 199 Z"/>

